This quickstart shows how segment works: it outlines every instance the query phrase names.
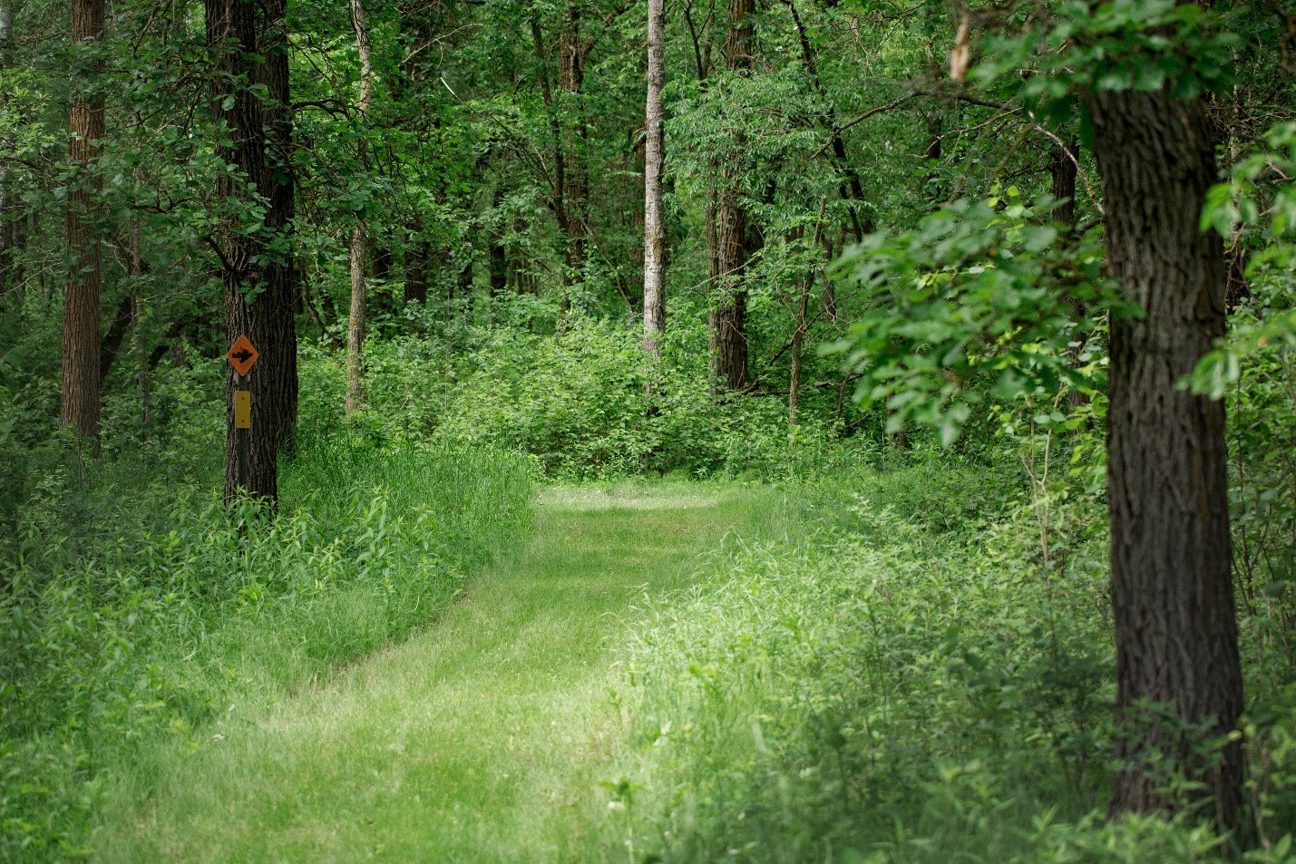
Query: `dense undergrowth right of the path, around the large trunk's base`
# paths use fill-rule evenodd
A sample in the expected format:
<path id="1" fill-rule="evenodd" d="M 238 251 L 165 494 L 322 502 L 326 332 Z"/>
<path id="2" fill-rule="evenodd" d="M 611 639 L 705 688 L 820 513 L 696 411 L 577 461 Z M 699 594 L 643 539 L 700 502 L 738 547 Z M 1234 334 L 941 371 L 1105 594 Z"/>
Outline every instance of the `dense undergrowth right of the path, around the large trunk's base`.
<path id="1" fill-rule="evenodd" d="M 604 784 L 594 858 L 1225 856 L 1173 766 L 1174 819 L 1107 821 L 1105 508 L 1080 496 L 1045 525 L 1006 475 L 919 459 L 820 482 L 806 492 L 819 536 L 740 544 L 704 566 L 700 583 L 718 587 L 654 604 L 630 649 L 634 746 Z M 1256 861 L 1296 860 L 1296 687 L 1277 593 L 1242 620 Z"/>

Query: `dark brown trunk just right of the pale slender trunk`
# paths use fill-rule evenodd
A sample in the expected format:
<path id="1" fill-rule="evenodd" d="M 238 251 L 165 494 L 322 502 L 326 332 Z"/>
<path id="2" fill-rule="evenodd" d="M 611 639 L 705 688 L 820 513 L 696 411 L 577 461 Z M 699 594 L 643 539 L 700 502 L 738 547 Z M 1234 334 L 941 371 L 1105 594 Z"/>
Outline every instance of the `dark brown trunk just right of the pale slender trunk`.
<path id="1" fill-rule="evenodd" d="M 752 70 L 754 0 L 730 0 L 724 66 L 739 75 Z M 743 206 L 737 161 L 741 133 L 735 133 L 728 163 L 715 192 L 712 232 L 710 279 L 715 290 L 710 312 L 712 380 L 739 390 L 746 385 L 746 209 Z"/>

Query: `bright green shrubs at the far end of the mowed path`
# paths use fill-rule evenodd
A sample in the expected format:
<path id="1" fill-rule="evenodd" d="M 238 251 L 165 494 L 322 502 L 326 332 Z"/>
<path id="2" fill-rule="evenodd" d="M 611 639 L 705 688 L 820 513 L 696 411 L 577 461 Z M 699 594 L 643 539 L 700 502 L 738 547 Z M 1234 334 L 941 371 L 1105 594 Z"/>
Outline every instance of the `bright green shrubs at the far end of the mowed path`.
<path id="1" fill-rule="evenodd" d="M 822 415 L 806 412 L 789 429 L 783 399 L 717 400 L 706 367 L 696 363 L 696 332 L 667 334 L 665 360 L 651 372 L 638 326 L 578 315 L 553 335 L 516 326 L 451 335 L 467 350 L 419 338 L 369 342 L 368 407 L 350 421 L 340 411 L 343 358 L 316 355 L 302 399 L 311 416 L 327 420 L 306 434 L 504 447 L 531 455 L 551 477 L 586 479 L 769 477 L 849 459 L 851 444 L 833 442 Z M 811 408 L 815 399 L 831 405 L 831 396 L 806 395 Z"/>

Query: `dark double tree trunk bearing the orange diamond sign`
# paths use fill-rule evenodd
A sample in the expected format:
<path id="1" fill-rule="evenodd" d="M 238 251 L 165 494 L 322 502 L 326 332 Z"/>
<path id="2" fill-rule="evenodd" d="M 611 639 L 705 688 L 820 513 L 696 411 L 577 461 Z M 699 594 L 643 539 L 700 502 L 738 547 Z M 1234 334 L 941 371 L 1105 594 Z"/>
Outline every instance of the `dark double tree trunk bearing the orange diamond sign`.
<path id="1" fill-rule="evenodd" d="M 290 256 L 267 255 L 263 240 L 290 231 L 293 216 L 284 0 L 206 0 L 206 17 L 218 73 L 211 84 L 213 114 L 228 130 L 218 153 L 242 175 L 222 175 L 216 193 L 227 205 L 236 205 L 246 202 L 255 189 L 267 205 L 264 231 L 249 234 L 237 219 L 226 218 L 218 236 L 227 345 L 246 334 L 260 352 L 246 382 L 251 429 L 246 433 L 244 475 L 238 470 L 233 416 L 238 387 L 232 368 L 227 380 L 226 500 L 248 495 L 273 505 L 279 501 L 279 455 L 292 446 L 297 420 L 294 268 Z M 264 88 L 264 101 L 253 87 Z"/>

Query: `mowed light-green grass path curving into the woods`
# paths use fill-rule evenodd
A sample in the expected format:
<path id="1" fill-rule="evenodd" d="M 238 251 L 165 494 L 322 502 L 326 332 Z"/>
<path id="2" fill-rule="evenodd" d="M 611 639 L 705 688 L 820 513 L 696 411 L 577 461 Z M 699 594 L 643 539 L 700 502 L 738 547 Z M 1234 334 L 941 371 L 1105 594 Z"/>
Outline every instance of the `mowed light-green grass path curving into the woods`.
<path id="1" fill-rule="evenodd" d="M 533 539 L 432 627 L 189 754 L 121 772 L 105 861 L 601 859 L 597 781 L 625 736 L 609 696 L 636 602 L 688 584 L 775 494 L 640 484 L 542 495 Z M 607 850 L 623 860 L 625 850 Z"/>

